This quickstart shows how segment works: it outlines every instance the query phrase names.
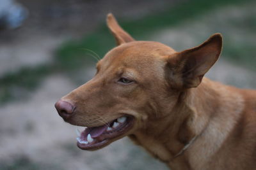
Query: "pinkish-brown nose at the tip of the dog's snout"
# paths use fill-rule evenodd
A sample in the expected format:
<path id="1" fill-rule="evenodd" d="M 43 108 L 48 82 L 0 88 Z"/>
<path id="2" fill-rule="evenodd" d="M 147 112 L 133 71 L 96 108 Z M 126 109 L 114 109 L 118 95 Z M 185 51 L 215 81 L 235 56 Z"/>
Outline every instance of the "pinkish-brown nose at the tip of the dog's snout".
<path id="1" fill-rule="evenodd" d="M 73 104 L 61 100 L 55 103 L 55 108 L 59 115 L 64 119 L 71 117 L 75 109 Z"/>

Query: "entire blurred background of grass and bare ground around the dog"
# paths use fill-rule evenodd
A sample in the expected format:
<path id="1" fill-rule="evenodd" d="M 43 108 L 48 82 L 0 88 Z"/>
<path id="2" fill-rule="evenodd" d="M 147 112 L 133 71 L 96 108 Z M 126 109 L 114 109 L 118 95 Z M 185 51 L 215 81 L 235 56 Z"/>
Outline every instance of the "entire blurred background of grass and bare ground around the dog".
<path id="1" fill-rule="evenodd" d="M 167 169 L 127 138 L 79 150 L 76 127 L 54 103 L 92 78 L 93 52 L 115 46 L 109 12 L 135 39 L 177 51 L 221 32 L 221 59 L 207 76 L 256 89 L 255 9 L 252 0 L 1 0 L 0 169 Z"/>

